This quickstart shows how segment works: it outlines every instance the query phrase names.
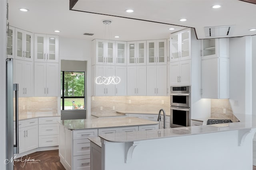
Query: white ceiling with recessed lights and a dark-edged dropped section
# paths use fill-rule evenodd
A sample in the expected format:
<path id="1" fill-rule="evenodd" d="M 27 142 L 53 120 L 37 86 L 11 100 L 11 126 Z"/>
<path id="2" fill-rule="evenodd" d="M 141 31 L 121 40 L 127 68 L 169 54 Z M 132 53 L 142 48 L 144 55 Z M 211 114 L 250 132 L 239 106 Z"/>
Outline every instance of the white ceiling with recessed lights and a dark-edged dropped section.
<path id="1" fill-rule="evenodd" d="M 166 39 L 170 33 L 194 27 L 198 39 L 204 39 L 204 27 L 222 25 L 234 25 L 230 37 L 256 35 L 256 31 L 248 31 L 256 28 L 256 4 L 239 0 L 78 0 L 72 10 L 69 10 L 69 0 L 8 0 L 8 3 L 10 25 L 34 33 L 69 38 L 120 41 Z M 212 9 L 215 4 L 220 4 L 222 8 Z M 19 8 L 30 11 L 20 12 Z M 133 9 L 134 12 L 126 13 L 126 9 Z M 187 21 L 179 21 L 181 18 Z M 102 23 L 104 19 L 112 20 L 110 33 L 109 27 L 105 28 Z M 170 27 L 176 29 L 170 31 Z M 54 33 L 56 29 L 61 32 Z M 115 35 L 120 38 L 114 38 Z"/>

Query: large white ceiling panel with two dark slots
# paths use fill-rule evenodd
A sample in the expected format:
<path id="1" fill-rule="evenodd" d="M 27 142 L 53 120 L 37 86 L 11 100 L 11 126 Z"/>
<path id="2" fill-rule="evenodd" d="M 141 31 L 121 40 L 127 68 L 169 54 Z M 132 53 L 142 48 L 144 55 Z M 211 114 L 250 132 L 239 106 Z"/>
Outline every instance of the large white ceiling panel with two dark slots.
<path id="1" fill-rule="evenodd" d="M 204 33 L 206 37 L 220 38 L 231 37 L 234 31 L 234 25 L 216 26 L 216 27 L 204 27 Z"/>

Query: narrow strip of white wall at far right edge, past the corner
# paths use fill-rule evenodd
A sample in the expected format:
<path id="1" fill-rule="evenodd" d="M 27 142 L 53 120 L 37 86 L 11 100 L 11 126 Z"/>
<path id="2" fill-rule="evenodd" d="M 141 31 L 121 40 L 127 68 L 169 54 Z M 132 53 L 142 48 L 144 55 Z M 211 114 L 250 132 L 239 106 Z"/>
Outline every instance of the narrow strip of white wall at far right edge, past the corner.
<path id="1" fill-rule="evenodd" d="M 252 114 L 256 115 L 256 35 L 252 36 L 252 87 Z"/>

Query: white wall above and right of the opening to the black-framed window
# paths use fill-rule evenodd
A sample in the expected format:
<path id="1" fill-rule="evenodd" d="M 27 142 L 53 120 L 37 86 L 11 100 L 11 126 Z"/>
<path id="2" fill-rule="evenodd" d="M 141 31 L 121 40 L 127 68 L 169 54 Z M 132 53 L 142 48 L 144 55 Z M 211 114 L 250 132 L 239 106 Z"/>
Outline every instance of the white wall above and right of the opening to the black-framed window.
<path id="1" fill-rule="evenodd" d="M 59 58 L 60 60 L 87 61 L 86 116 L 88 117 L 91 114 L 92 41 L 59 37 Z"/>

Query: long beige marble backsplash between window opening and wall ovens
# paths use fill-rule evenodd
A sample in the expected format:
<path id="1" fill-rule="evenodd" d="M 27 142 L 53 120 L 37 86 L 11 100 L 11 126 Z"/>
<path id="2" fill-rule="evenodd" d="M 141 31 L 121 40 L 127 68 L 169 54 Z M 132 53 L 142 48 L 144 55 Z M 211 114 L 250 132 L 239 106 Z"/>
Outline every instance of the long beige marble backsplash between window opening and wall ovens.
<path id="1" fill-rule="evenodd" d="M 162 102 L 164 104 L 162 104 Z M 115 110 L 113 110 L 113 106 Z M 159 111 L 170 113 L 169 96 L 92 96 L 91 111 L 115 113 L 119 111 Z"/>

